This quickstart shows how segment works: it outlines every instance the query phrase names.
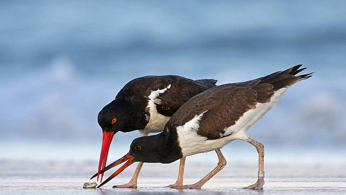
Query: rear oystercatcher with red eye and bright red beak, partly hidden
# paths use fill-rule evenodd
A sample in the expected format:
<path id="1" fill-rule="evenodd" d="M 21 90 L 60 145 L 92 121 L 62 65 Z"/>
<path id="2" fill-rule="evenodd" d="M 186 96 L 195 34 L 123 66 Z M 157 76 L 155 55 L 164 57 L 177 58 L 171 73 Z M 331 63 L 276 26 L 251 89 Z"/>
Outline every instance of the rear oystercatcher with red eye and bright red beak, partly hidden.
<path id="1" fill-rule="evenodd" d="M 109 147 L 113 135 L 118 131 L 139 130 L 141 136 L 150 132 L 161 132 L 171 116 L 191 97 L 215 87 L 217 80 L 191 80 L 180 76 L 145 76 L 128 82 L 115 99 L 104 106 L 98 115 L 98 123 L 103 131 L 102 149 L 97 176 L 106 167 Z M 185 158 L 179 166 L 178 179 L 170 187 L 182 185 Z M 139 162 L 132 179 L 124 185 L 113 188 L 135 188 L 143 162 Z M 103 172 L 101 173 L 102 182 Z"/>

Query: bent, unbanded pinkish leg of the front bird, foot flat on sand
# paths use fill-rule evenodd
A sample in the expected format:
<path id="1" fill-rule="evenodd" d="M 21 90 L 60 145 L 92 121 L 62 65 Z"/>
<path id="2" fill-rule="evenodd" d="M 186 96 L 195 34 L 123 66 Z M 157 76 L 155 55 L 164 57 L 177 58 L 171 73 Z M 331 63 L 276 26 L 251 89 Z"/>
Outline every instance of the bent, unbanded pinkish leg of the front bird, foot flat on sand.
<path id="1" fill-rule="evenodd" d="M 217 163 L 217 166 L 212 171 L 210 171 L 206 176 L 204 176 L 201 180 L 197 181 L 197 183 L 195 183 L 195 184 L 177 186 L 177 187 L 173 187 L 173 188 L 177 188 L 177 189 L 200 189 L 210 178 L 212 178 L 221 169 L 223 169 L 227 163 L 226 159 L 222 155 L 220 149 L 216 149 L 215 151 L 216 151 L 217 156 L 219 158 L 219 162 Z"/>

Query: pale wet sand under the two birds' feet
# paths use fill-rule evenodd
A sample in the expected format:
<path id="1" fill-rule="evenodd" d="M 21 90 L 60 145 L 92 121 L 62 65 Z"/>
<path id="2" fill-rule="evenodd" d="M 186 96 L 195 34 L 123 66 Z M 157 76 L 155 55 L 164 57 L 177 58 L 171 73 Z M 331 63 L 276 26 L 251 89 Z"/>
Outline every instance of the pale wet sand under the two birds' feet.
<path id="1" fill-rule="evenodd" d="M 262 191 L 242 187 L 257 179 L 256 165 L 228 165 L 200 190 L 176 190 L 166 185 L 176 179 L 177 163 L 172 165 L 146 164 L 138 179 L 137 189 L 113 189 L 126 183 L 135 166 L 111 180 L 100 189 L 83 189 L 90 182 L 94 165 L 91 162 L 2 162 L 0 194 L 345 194 L 346 170 L 344 165 L 286 164 L 266 165 L 265 185 Z M 14 169 L 14 167 L 20 168 Z M 200 179 L 215 165 L 188 163 L 185 184 Z M 78 169 L 76 169 L 78 167 Z M 114 171 L 112 169 L 112 171 Z M 105 175 L 108 177 L 111 172 Z"/>

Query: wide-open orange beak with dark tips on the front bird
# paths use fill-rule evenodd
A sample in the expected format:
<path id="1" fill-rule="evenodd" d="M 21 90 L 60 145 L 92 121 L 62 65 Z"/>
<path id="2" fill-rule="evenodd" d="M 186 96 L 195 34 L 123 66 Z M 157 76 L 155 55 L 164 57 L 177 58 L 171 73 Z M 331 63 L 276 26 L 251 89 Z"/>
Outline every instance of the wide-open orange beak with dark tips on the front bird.
<path id="1" fill-rule="evenodd" d="M 127 161 L 124 165 L 122 165 L 118 170 L 116 170 L 111 176 L 109 176 L 106 180 L 104 180 L 99 186 L 97 186 L 98 188 L 103 186 L 104 184 L 106 184 L 109 180 L 113 179 L 114 177 L 116 177 L 117 175 L 119 175 L 126 167 L 130 166 L 132 163 L 134 163 L 134 158 L 133 156 L 131 156 L 129 153 L 127 153 L 125 156 L 121 157 L 119 160 L 111 163 L 110 165 L 108 165 L 106 168 L 99 170 L 99 172 L 95 175 L 93 175 L 90 179 L 96 177 L 97 175 L 100 174 L 100 172 L 103 173 L 123 162 Z"/>

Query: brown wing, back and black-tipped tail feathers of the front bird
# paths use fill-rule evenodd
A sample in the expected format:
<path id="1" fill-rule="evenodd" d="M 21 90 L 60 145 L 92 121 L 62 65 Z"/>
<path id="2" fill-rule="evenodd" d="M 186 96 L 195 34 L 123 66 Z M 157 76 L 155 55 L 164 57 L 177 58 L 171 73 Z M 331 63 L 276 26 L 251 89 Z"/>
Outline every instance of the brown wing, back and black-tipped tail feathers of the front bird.
<path id="1" fill-rule="evenodd" d="M 295 76 L 306 69 L 300 67 L 301 64 L 255 80 L 208 89 L 187 101 L 169 123 L 172 126 L 183 125 L 208 110 L 200 121 L 198 134 L 208 139 L 219 139 L 225 136 L 222 134 L 226 127 L 234 125 L 248 110 L 255 109 L 257 103 L 270 102 L 276 90 L 312 76 L 312 73 Z"/>

